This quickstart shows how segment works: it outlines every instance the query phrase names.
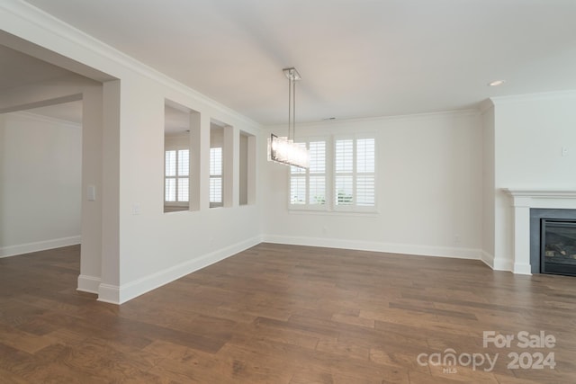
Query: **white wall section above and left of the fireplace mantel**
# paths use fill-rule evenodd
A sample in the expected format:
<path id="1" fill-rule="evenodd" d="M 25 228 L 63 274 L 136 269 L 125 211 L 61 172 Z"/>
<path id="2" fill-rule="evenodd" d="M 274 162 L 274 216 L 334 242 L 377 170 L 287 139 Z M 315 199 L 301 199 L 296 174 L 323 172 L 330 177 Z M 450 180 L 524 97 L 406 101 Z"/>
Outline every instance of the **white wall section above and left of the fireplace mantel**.
<path id="1" fill-rule="evenodd" d="M 512 270 L 513 210 L 502 188 L 576 190 L 576 93 L 500 97 L 495 104 L 495 263 Z M 568 149 L 563 156 L 562 148 Z"/>

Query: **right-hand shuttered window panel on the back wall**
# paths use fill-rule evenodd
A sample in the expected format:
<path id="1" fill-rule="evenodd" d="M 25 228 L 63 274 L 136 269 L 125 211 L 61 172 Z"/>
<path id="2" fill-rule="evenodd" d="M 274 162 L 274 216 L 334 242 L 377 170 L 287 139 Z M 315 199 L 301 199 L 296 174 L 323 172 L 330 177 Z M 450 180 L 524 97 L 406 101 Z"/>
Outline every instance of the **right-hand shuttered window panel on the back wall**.
<path id="1" fill-rule="evenodd" d="M 334 192 L 337 207 L 375 206 L 374 138 L 337 139 Z"/>

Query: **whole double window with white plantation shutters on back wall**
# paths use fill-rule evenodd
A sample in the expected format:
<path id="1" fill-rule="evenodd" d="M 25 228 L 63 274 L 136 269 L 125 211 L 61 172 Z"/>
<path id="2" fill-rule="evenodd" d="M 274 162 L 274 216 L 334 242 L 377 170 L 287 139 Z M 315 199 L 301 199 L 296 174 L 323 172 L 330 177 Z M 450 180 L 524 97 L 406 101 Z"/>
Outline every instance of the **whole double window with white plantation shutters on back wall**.
<path id="1" fill-rule="evenodd" d="M 302 146 L 310 151 L 310 168 L 291 166 L 291 209 L 375 209 L 374 136 L 311 139 Z"/>

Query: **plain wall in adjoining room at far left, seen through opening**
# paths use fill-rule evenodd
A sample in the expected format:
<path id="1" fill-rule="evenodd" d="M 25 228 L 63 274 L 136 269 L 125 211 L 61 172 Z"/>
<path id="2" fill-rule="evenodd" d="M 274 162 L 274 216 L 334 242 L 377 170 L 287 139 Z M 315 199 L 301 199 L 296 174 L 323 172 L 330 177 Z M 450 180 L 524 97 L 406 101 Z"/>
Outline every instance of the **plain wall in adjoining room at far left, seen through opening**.
<path id="1" fill-rule="evenodd" d="M 0 256 L 80 242 L 82 128 L 25 112 L 0 121 Z"/>

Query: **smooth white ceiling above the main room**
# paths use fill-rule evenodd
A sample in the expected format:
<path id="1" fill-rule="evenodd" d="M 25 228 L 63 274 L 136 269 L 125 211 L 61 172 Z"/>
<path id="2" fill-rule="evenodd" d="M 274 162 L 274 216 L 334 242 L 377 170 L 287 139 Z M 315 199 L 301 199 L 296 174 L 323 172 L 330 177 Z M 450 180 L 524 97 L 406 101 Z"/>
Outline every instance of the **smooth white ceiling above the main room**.
<path id="1" fill-rule="evenodd" d="M 287 120 L 283 67 L 297 121 L 576 89 L 573 0 L 27 2 L 263 124 Z"/>

